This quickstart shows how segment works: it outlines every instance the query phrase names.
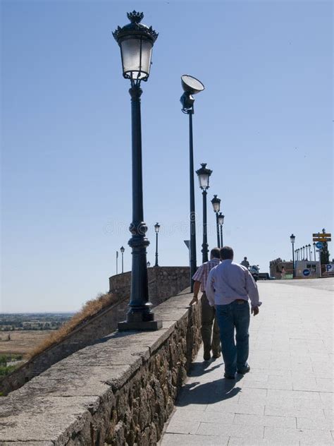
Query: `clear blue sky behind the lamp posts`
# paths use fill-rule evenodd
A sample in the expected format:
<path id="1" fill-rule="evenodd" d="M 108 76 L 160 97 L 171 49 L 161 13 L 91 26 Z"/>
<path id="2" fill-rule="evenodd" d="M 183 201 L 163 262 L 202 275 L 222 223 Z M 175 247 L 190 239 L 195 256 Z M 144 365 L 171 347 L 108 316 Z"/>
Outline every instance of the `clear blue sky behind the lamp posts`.
<path id="1" fill-rule="evenodd" d="M 154 263 L 187 265 L 187 116 L 202 80 L 194 164 L 213 169 L 224 243 L 262 272 L 333 231 L 330 1 L 1 1 L 0 312 L 75 311 L 130 270 L 129 83 L 111 32 L 144 12 L 159 32 L 143 84 L 144 219 Z M 197 260 L 202 194 L 195 179 Z M 216 243 L 208 206 L 209 245 Z M 333 249 L 330 243 L 330 252 Z"/>

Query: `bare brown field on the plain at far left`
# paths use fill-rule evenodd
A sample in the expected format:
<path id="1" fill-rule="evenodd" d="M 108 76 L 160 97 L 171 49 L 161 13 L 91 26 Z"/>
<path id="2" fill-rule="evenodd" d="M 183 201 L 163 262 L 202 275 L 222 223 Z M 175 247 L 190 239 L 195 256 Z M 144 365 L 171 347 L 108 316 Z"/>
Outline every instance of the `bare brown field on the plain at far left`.
<path id="1" fill-rule="evenodd" d="M 32 330 L 0 332 L 0 354 L 17 353 L 26 356 L 32 349 L 42 342 L 52 330 Z M 8 341 L 8 335 L 11 340 Z"/>

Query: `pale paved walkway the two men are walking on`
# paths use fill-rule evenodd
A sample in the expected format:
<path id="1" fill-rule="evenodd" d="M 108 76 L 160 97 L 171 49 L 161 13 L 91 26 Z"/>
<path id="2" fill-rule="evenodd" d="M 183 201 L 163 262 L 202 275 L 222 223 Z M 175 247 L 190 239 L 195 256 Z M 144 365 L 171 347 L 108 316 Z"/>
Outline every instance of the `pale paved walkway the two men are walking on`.
<path id="1" fill-rule="evenodd" d="M 333 445 L 333 284 L 259 282 L 251 371 L 225 380 L 199 351 L 160 445 Z"/>

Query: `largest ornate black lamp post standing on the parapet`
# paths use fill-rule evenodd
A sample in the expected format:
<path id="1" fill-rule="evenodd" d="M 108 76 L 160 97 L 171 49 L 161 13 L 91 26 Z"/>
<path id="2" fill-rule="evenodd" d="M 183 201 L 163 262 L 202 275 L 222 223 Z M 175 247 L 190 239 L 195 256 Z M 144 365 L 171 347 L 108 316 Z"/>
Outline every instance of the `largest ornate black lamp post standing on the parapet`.
<path id="1" fill-rule="evenodd" d="M 131 121 L 132 121 L 132 237 L 128 242 L 132 248 L 131 294 L 127 320 L 118 323 L 118 330 L 158 330 L 161 320 L 154 320 L 149 302 L 147 280 L 146 238 L 147 226 L 144 223 L 142 197 L 142 124 L 140 83 L 147 81 L 151 68 L 151 54 L 158 33 L 141 22 L 143 13 L 128 13 L 130 23 L 113 32 L 120 47 L 123 77 L 130 80 Z"/>

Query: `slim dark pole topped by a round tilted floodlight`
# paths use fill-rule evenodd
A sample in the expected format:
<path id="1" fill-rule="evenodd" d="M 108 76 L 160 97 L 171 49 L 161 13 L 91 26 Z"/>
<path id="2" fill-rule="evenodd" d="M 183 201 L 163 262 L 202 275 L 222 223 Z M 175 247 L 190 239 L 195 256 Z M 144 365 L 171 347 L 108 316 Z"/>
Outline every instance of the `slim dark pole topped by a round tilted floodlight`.
<path id="1" fill-rule="evenodd" d="M 198 79 L 184 74 L 181 76 L 183 95 L 180 98 L 183 113 L 189 115 L 189 174 L 190 174 L 190 291 L 194 291 L 192 276 L 197 269 L 196 260 L 196 215 L 194 205 L 194 147 L 192 140 L 192 115 L 194 114 L 194 97 L 204 90 Z"/>

